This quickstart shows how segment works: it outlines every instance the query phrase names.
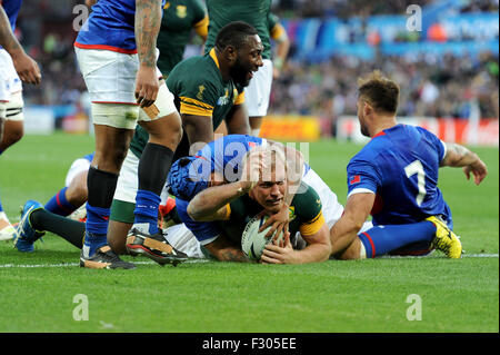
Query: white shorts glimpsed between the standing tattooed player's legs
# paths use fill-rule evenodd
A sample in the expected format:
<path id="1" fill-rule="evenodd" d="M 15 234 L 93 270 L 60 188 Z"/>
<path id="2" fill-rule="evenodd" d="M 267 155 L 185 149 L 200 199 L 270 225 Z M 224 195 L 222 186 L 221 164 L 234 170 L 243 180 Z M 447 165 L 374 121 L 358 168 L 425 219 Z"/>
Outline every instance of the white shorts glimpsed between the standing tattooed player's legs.
<path id="1" fill-rule="evenodd" d="M 120 169 L 118 176 L 117 189 L 114 190 L 113 199 L 130 203 L 136 205 L 136 195 L 139 188 L 139 158 L 129 149 L 127 157 Z M 169 194 L 167 193 L 167 185 L 161 191 L 161 204 L 167 201 Z"/>

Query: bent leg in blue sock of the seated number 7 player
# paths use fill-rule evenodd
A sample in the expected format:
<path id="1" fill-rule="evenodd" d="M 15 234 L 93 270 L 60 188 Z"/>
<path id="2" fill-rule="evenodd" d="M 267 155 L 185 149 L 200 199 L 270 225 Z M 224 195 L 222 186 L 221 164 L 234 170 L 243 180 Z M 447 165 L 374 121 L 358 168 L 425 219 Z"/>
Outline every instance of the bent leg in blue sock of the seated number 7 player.
<path id="1" fill-rule="evenodd" d="M 436 226 L 427 220 L 408 225 L 376 226 L 360 233 L 358 238 L 336 258 L 344 260 L 373 258 L 391 252 L 398 252 L 400 255 L 423 255 L 430 252 L 434 236 Z"/>

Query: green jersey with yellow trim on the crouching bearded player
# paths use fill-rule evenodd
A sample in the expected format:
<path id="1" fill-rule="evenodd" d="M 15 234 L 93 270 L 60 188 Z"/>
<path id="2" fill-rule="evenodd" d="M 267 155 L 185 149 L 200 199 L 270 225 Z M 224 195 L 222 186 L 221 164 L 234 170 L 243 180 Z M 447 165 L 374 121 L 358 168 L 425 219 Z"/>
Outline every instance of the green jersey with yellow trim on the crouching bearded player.
<path id="1" fill-rule="evenodd" d="M 181 115 L 211 117 L 213 130 L 234 105 L 244 102 L 243 87 L 232 80 L 222 80 L 214 49 L 206 56 L 182 60 L 170 72 L 167 86 L 176 97 L 179 103 L 177 109 Z M 130 150 L 140 157 L 148 139 L 148 132 L 138 125 Z"/>

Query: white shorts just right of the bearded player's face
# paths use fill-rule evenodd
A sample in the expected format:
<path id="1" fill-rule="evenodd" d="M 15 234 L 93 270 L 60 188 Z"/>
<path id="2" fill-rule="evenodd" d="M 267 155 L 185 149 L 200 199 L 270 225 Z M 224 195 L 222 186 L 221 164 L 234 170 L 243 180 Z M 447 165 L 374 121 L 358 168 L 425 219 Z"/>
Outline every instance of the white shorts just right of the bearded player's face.
<path id="1" fill-rule="evenodd" d="M 244 106 L 248 117 L 264 117 L 268 114 L 272 85 L 272 61 L 262 60 L 263 66 L 253 73 L 250 85 L 244 88 Z"/>

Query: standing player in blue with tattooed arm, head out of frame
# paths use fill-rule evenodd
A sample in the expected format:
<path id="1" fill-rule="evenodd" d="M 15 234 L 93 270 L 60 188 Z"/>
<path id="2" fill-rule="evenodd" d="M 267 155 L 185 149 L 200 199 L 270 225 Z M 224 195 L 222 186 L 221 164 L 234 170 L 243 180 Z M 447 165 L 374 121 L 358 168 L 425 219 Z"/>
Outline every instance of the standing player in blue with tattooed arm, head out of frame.
<path id="1" fill-rule="evenodd" d="M 139 164 L 134 223 L 158 231 L 160 194 L 181 136 L 181 119 L 157 68 L 164 0 L 99 0 L 74 42 L 92 101 L 96 156 L 88 172 L 87 231 L 80 265 L 133 268 L 108 246 L 110 206 L 139 122 L 149 141 Z"/>

